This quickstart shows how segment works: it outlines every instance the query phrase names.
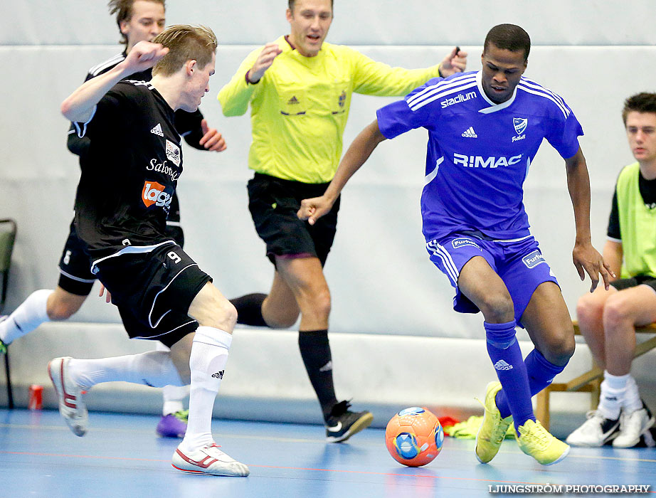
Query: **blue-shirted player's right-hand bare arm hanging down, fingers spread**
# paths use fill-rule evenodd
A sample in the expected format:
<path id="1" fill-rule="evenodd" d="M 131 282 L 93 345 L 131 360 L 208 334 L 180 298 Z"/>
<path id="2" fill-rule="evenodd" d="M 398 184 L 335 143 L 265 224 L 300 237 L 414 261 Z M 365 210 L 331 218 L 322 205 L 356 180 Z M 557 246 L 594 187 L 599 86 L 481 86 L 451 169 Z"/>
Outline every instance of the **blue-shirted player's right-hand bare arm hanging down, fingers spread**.
<path id="1" fill-rule="evenodd" d="M 583 157 L 580 147 L 576 154 L 565 159 L 565 165 L 567 188 L 574 208 L 576 225 L 576 242 L 572 251 L 574 266 L 581 280 L 585 280 L 586 273 L 590 276 L 592 280 L 590 292 L 596 289 L 599 275 L 603 278 L 605 290 L 608 290 L 610 277 L 615 277 L 615 273 L 592 245 L 590 237 L 590 176 L 588 176 L 586 158 Z"/>

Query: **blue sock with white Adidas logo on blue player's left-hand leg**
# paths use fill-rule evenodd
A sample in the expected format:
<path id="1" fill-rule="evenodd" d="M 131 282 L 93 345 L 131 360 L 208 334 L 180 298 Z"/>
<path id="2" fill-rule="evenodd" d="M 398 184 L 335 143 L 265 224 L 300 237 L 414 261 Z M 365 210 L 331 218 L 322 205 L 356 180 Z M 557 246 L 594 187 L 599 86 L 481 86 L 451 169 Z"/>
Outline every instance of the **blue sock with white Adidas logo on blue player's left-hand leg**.
<path id="1" fill-rule="evenodd" d="M 487 337 L 487 354 L 494 364 L 503 391 L 512 400 L 509 408 L 517 430 L 519 425 L 524 425 L 527 420 L 535 420 L 535 415 L 531 405 L 527 368 L 515 337 L 515 322 L 514 320 L 504 324 L 483 322 L 483 326 Z"/>

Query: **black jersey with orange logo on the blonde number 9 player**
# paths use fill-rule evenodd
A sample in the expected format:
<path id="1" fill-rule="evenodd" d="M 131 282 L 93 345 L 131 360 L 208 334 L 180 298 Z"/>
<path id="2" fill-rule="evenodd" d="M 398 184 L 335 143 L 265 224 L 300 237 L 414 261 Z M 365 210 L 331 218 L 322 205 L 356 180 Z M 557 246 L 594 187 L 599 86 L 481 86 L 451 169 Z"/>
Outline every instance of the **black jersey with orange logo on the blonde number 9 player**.
<path id="1" fill-rule="evenodd" d="M 182 173 L 174 111 L 145 81 L 117 83 L 98 102 L 80 157 L 75 228 L 93 260 L 123 252 L 147 252 L 170 238 L 166 216 Z M 127 249 L 127 246 L 131 248 Z"/>

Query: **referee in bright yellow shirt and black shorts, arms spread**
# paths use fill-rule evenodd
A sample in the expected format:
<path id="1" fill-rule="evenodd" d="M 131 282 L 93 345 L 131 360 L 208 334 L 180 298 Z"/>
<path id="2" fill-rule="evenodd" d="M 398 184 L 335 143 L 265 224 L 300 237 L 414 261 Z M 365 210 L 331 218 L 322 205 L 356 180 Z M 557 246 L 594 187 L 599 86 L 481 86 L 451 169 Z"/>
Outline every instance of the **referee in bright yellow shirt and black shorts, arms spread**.
<path id="1" fill-rule="evenodd" d="M 346 46 L 325 43 L 332 0 L 289 0 L 291 32 L 258 48 L 240 65 L 218 100 L 226 116 L 250 105 L 253 144 L 248 166 L 249 209 L 275 265 L 268 295 L 232 300 L 243 324 L 291 327 L 300 314 L 299 346 L 319 398 L 327 440 L 339 442 L 366 428 L 367 411 L 337 402 L 328 342 L 330 292 L 323 274 L 337 228 L 337 201 L 314 226 L 296 213 L 304 198 L 320 196 L 342 156 L 351 95 L 406 95 L 430 78 L 465 69 L 467 54 L 455 48 L 440 65 L 391 68 Z"/>

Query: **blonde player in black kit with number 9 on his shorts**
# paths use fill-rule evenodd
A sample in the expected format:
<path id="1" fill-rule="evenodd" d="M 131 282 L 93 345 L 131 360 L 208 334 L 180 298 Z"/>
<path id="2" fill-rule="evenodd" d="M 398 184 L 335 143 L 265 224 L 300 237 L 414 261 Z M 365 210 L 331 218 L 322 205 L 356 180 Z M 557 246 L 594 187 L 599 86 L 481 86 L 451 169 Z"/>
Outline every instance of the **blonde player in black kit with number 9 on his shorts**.
<path id="1" fill-rule="evenodd" d="M 60 413 L 79 436 L 88 424 L 83 391 L 97 383 L 191 383 L 189 423 L 172 465 L 246 476 L 248 467 L 219 450 L 211 434 L 236 309 L 165 233 L 182 173 L 174 111 L 198 108 L 214 73 L 216 45 L 208 28 L 171 26 L 154 43 L 137 43 L 122 63 L 63 102 L 62 113 L 78 135 L 91 139 L 75 198 L 75 229 L 87 245 L 92 272 L 111 292 L 129 337 L 159 340 L 171 350 L 56 358 L 48 373 Z M 122 81 L 151 66 L 150 82 Z"/>

